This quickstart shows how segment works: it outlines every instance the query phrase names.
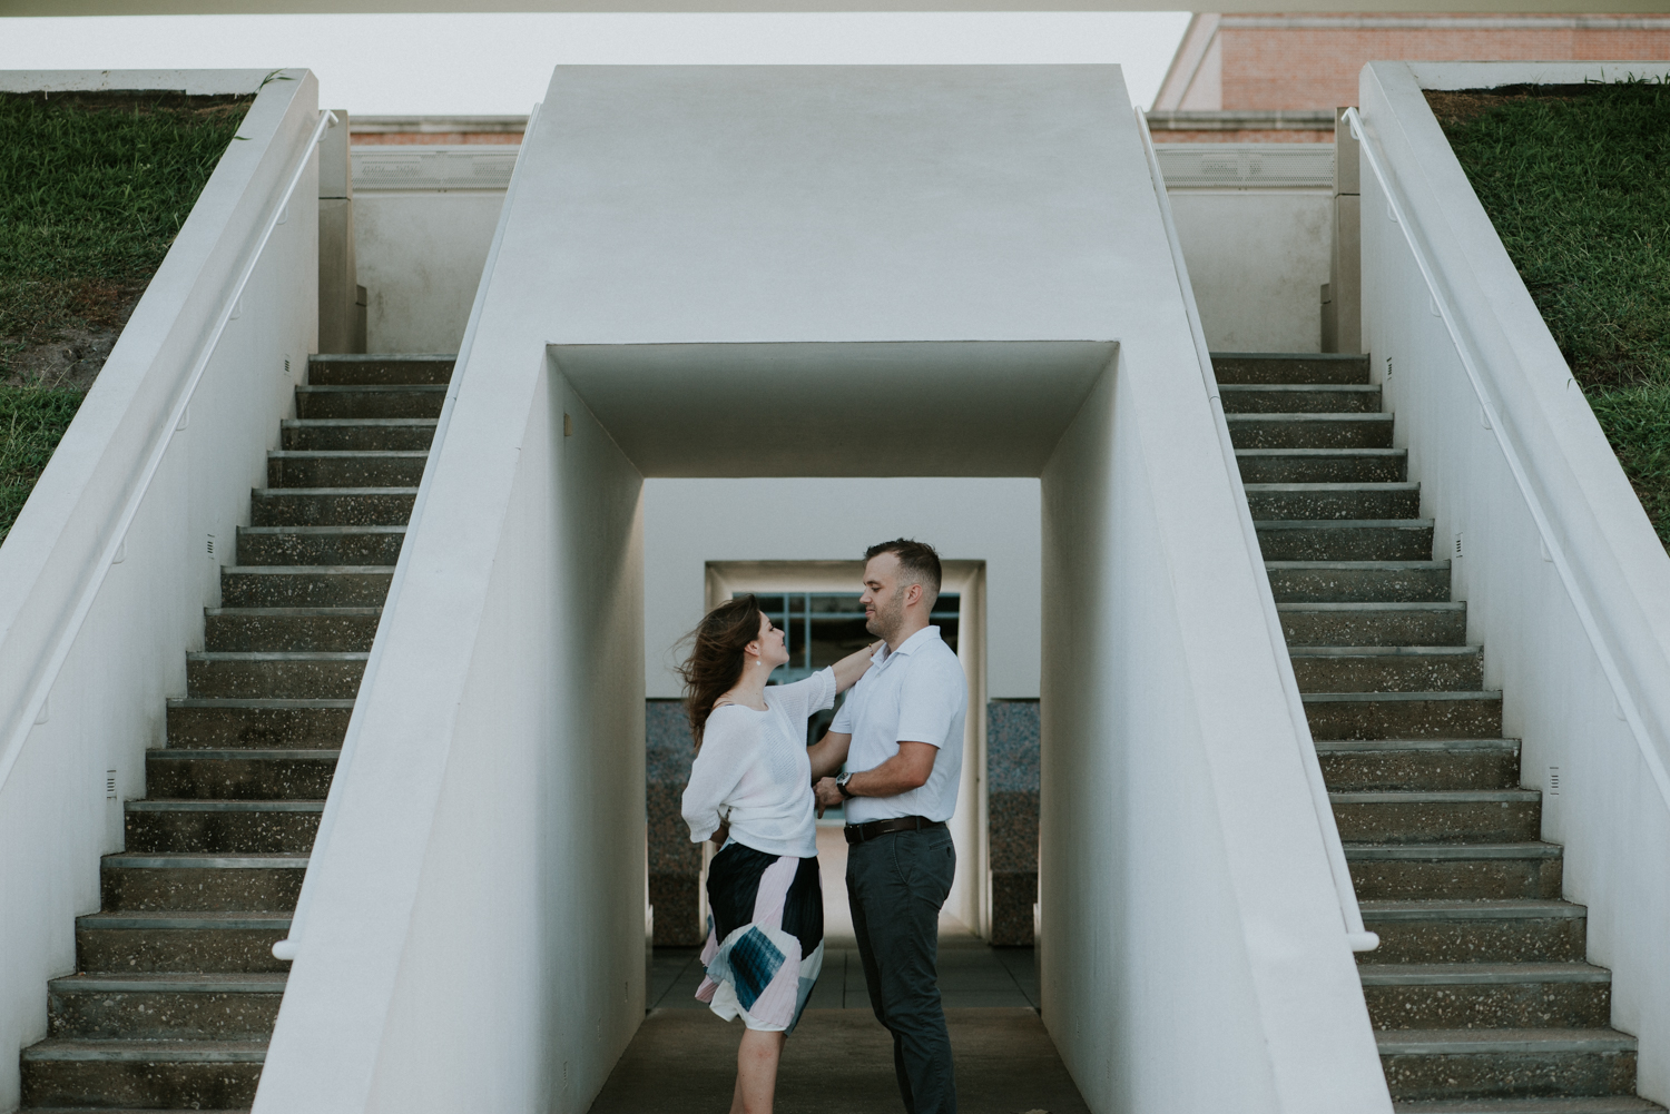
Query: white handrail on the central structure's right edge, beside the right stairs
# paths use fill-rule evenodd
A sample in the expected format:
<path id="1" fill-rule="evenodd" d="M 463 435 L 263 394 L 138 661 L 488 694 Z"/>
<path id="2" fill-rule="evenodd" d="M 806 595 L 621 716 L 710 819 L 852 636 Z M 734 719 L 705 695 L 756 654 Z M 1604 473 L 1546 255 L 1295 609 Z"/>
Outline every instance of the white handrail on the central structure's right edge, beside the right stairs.
<path id="1" fill-rule="evenodd" d="M 1241 483 L 1236 446 L 1229 439 L 1229 423 L 1224 418 L 1224 404 L 1217 392 L 1217 376 L 1212 374 L 1212 354 L 1206 346 L 1206 329 L 1201 326 L 1201 309 L 1194 302 L 1189 267 L 1182 259 L 1182 242 L 1177 239 L 1177 225 L 1171 215 L 1166 179 L 1159 169 L 1159 155 L 1154 152 L 1154 139 L 1149 135 L 1147 119 L 1141 109 L 1136 110 L 1136 117 L 1137 130 L 1142 134 L 1142 150 L 1149 162 L 1149 175 L 1154 180 L 1161 222 L 1166 225 L 1166 239 L 1171 244 L 1171 259 L 1177 272 L 1177 289 L 1182 294 L 1182 304 L 1189 316 L 1189 332 L 1194 339 L 1201 379 L 1206 382 L 1206 394 L 1211 399 L 1212 426 L 1217 429 L 1224 473 L 1236 494 L 1236 521 L 1241 526 L 1241 541 L 1254 566 L 1263 568 L 1264 553 L 1258 541 L 1258 528 L 1252 524 L 1252 511 L 1247 508 L 1246 488 Z M 1268 580 L 1264 581 L 1264 590 L 1259 591 L 1259 605 L 1264 611 L 1264 633 L 1269 638 L 1271 651 L 1276 655 L 1278 663 L 1289 661 L 1288 636 L 1281 630 L 1281 615 L 1276 611 L 1276 596 L 1269 591 Z M 1316 827 L 1323 835 L 1323 850 L 1328 855 L 1328 872 L 1334 882 L 1334 897 L 1339 902 L 1339 919 L 1344 922 L 1346 944 L 1353 952 L 1373 952 L 1379 947 L 1379 935 L 1363 925 L 1363 910 L 1356 900 L 1356 887 L 1351 884 L 1351 867 L 1346 863 L 1344 843 L 1339 840 L 1334 807 L 1328 800 L 1328 782 L 1323 778 L 1323 767 L 1316 758 L 1316 743 L 1311 740 L 1311 722 L 1304 715 L 1304 698 L 1299 695 L 1299 683 L 1294 680 L 1291 666 L 1279 668 L 1278 671 L 1281 673 L 1281 691 L 1288 703 L 1288 718 L 1293 722 L 1293 735 L 1299 740 L 1299 765 L 1304 767 L 1304 782 L 1311 793 L 1311 807 L 1316 812 Z"/>

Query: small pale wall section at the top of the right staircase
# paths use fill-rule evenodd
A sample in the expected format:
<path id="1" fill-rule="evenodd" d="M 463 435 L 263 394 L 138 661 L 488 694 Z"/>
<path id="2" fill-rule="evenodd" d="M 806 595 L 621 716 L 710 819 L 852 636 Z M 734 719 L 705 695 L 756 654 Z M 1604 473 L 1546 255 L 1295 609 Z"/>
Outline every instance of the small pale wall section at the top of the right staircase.
<path id="1" fill-rule="evenodd" d="M 1331 189 L 1171 189 L 1214 352 L 1318 352 Z"/>

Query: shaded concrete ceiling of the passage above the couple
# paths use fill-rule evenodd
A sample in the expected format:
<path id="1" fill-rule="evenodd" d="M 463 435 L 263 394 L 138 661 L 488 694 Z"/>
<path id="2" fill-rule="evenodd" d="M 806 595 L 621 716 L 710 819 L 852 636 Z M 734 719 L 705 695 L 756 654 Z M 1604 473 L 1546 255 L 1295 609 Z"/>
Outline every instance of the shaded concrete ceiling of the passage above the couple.
<path id="1" fill-rule="evenodd" d="M 645 476 L 1037 476 L 1107 341 L 553 344 Z"/>

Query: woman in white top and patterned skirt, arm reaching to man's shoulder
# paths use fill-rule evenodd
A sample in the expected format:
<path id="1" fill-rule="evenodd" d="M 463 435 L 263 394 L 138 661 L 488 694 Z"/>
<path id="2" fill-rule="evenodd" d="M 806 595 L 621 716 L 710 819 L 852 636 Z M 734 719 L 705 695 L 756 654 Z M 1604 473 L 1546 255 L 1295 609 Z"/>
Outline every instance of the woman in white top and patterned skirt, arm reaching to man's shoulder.
<path id="1" fill-rule="evenodd" d="M 753 596 L 713 608 L 690 638 L 681 673 L 696 760 L 683 812 L 691 840 L 720 843 L 696 997 L 746 1025 L 731 1114 L 770 1114 L 783 1039 L 823 967 L 807 720 L 863 676 L 875 646 L 767 688 L 788 648 Z"/>

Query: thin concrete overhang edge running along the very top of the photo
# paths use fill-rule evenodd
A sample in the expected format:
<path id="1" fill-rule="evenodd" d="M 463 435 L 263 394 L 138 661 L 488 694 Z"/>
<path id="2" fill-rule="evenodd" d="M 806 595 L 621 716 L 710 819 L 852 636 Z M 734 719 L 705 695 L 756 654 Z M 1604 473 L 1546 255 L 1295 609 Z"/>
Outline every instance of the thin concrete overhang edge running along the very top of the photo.
<path id="1" fill-rule="evenodd" d="M 0 0 L 5 15 L 346 12 L 1192 12 L 1181 0 Z M 1670 12 L 1670 0 L 1219 0 L 1217 12 Z"/>

